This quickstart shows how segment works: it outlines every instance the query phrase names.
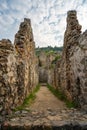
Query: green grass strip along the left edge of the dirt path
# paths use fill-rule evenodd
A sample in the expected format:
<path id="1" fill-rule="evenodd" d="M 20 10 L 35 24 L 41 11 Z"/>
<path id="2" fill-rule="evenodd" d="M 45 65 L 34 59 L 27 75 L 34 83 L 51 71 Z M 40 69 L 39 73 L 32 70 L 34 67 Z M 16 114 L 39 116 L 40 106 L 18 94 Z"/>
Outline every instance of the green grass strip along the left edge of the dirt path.
<path id="1" fill-rule="evenodd" d="M 26 107 L 31 105 L 31 103 L 35 100 L 36 93 L 39 91 L 39 89 L 40 89 L 40 84 L 38 84 L 36 88 L 24 99 L 23 104 L 15 108 L 14 111 L 26 110 Z"/>

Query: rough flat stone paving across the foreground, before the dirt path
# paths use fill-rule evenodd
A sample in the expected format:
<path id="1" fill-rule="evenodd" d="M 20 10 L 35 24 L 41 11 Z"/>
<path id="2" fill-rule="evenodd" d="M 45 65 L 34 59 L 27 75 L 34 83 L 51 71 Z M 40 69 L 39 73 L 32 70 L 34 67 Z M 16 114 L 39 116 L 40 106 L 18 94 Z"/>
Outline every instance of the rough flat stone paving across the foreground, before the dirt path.
<path id="1" fill-rule="evenodd" d="M 87 130 L 87 114 L 75 109 L 18 111 L 1 124 L 2 130 Z"/>

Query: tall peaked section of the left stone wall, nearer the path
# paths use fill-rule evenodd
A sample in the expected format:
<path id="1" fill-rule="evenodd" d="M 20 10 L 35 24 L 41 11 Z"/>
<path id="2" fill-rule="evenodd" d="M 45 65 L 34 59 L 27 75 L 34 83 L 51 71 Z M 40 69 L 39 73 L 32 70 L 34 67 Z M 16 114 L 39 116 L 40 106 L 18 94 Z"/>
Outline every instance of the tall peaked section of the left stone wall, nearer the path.
<path id="1" fill-rule="evenodd" d="M 36 69 L 35 43 L 33 40 L 31 21 L 24 19 L 18 33 L 15 35 L 15 48 L 17 53 L 17 70 L 19 93 L 28 95 L 33 86 L 38 83 L 38 69 Z M 25 86 L 25 87 L 24 87 Z M 23 90 L 24 89 L 24 90 Z M 20 95 L 19 95 L 20 98 Z M 23 99 L 21 98 L 21 101 Z"/>

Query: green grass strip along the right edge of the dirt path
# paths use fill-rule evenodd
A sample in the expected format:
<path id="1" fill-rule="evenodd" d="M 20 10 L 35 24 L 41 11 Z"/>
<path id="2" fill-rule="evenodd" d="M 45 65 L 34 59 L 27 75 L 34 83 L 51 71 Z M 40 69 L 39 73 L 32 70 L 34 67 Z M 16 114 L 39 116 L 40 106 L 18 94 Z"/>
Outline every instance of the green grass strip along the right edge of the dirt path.
<path id="1" fill-rule="evenodd" d="M 78 107 L 77 103 L 67 100 L 66 96 L 57 89 L 54 89 L 51 85 L 47 84 L 48 89 L 60 100 L 64 101 L 68 108 Z"/>

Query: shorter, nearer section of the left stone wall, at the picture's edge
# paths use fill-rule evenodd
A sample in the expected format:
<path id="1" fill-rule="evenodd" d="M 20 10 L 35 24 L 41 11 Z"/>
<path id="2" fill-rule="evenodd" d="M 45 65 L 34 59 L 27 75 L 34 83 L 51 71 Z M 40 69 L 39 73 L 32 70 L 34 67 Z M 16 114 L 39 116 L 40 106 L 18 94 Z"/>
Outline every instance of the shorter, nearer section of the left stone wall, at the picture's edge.
<path id="1" fill-rule="evenodd" d="M 0 113 L 10 112 L 17 101 L 16 57 L 9 40 L 0 41 Z"/>

